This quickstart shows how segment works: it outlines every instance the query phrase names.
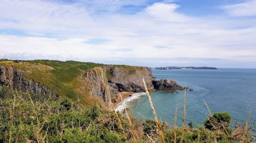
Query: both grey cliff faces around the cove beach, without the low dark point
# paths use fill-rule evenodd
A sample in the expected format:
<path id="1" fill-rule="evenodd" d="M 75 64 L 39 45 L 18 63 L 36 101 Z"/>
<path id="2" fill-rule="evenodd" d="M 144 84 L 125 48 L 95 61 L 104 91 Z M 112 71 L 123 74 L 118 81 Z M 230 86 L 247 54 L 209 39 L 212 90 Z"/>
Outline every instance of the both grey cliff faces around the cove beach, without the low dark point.
<path id="1" fill-rule="evenodd" d="M 144 92 L 143 78 L 148 90 L 154 90 L 152 80 L 155 78 L 148 67 L 95 67 L 87 71 L 84 78 L 90 87 L 90 95 L 103 99 L 109 105 L 115 102 L 118 92 Z"/>

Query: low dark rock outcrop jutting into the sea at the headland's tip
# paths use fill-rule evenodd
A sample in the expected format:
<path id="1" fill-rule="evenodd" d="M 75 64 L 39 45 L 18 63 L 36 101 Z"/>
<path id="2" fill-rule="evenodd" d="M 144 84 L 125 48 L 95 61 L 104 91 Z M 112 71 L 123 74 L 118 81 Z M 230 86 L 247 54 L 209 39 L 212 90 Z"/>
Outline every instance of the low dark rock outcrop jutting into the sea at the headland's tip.
<path id="1" fill-rule="evenodd" d="M 176 81 L 170 79 L 153 80 L 152 84 L 156 90 L 166 90 L 167 92 L 183 90 L 183 88 L 178 85 Z"/>

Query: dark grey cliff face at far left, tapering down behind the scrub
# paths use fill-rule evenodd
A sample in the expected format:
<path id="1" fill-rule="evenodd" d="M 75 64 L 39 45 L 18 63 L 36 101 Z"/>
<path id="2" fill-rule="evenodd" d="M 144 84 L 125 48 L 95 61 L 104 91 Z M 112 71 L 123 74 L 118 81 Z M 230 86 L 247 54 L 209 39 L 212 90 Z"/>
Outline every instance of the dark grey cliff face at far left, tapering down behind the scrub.
<path id="1" fill-rule="evenodd" d="M 55 91 L 47 89 L 44 84 L 27 80 L 22 72 L 12 67 L 0 67 L 0 86 L 11 87 L 18 91 L 28 91 L 39 95 L 55 95 Z"/>

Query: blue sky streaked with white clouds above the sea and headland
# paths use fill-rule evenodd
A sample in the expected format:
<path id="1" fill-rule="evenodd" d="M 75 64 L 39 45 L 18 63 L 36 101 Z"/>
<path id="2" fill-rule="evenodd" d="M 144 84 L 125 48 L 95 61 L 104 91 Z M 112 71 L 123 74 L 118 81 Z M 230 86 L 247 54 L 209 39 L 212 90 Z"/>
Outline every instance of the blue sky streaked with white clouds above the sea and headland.
<path id="1" fill-rule="evenodd" d="M 256 68 L 256 0 L 0 1 L 0 59 Z"/>

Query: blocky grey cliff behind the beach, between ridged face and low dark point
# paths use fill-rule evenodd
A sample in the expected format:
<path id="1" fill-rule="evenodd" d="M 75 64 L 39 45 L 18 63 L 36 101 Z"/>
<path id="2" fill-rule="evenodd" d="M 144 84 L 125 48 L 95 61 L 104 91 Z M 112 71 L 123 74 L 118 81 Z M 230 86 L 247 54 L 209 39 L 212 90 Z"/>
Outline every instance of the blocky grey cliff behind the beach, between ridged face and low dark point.
<path id="1" fill-rule="evenodd" d="M 142 79 L 144 78 L 147 89 L 152 91 L 155 79 L 148 67 L 104 67 L 110 72 L 109 82 L 115 84 L 119 92 L 145 92 Z"/>

